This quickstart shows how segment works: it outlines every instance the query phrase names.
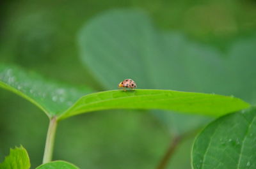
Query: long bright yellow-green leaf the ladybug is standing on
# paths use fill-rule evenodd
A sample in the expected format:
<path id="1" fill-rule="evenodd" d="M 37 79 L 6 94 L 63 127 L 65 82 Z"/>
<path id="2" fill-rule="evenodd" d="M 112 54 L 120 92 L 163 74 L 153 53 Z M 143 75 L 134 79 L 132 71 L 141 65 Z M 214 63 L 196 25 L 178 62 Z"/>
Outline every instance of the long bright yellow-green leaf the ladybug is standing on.
<path id="1" fill-rule="evenodd" d="M 152 89 L 136 89 L 126 92 L 116 90 L 83 96 L 61 115 L 60 119 L 85 112 L 120 108 L 162 109 L 218 116 L 249 106 L 241 99 L 217 94 Z"/>

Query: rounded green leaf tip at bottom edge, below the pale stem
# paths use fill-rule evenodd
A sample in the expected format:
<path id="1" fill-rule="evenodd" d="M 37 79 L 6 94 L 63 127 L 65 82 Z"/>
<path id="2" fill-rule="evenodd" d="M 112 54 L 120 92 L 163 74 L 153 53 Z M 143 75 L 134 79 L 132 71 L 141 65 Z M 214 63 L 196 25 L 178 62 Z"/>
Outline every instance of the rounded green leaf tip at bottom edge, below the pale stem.
<path id="1" fill-rule="evenodd" d="M 52 161 L 36 167 L 36 169 L 79 169 L 77 166 L 68 163 L 67 161 Z"/>

